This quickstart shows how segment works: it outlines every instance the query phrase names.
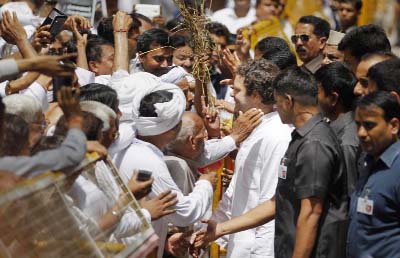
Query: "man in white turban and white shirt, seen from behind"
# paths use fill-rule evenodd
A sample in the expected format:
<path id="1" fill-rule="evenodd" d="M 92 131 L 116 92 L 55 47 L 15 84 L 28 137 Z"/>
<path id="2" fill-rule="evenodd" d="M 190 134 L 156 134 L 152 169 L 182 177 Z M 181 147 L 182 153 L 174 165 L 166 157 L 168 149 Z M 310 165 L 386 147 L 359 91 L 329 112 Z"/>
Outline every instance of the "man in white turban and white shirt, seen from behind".
<path id="1" fill-rule="evenodd" d="M 215 173 L 202 175 L 193 191 L 184 196 L 165 164 L 162 150 L 176 137 L 185 111 L 186 100 L 180 88 L 161 82 L 148 73 L 136 73 L 114 86 L 121 96 L 121 122 L 131 122 L 137 131 L 137 138 L 130 146 L 113 157 L 122 178 L 127 181 L 134 170 L 150 171 L 154 183 L 149 197 L 168 189 L 177 194 L 176 212 L 152 223 L 160 237 L 158 257 L 161 258 L 168 223 L 189 226 L 208 211 L 212 203 Z"/>

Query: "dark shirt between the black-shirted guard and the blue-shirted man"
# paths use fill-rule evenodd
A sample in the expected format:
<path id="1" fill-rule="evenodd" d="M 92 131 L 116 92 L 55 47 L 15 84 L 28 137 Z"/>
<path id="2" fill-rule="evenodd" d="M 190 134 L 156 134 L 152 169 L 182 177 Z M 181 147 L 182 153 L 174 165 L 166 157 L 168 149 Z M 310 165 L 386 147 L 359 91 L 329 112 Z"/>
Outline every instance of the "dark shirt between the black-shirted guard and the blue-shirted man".
<path id="1" fill-rule="evenodd" d="M 331 122 L 331 127 L 336 133 L 343 151 L 347 171 L 347 187 L 349 196 L 351 196 L 359 177 L 357 173 L 357 161 L 361 154 L 354 113 L 349 111 L 339 116 L 338 119 Z"/>

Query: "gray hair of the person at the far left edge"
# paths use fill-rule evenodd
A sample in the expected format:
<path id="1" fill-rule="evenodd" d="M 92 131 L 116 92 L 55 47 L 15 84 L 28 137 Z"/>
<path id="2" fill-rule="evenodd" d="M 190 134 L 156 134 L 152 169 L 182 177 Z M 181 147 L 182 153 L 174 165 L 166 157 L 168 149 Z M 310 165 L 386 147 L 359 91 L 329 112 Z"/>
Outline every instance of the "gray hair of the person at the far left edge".
<path id="1" fill-rule="evenodd" d="M 37 115 L 42 113 L 42 105 L 35 98 L 27 95 L 13 94 L 3 98 L 6 113 L 14 114 L 28 124 L 36 122 Z"/>

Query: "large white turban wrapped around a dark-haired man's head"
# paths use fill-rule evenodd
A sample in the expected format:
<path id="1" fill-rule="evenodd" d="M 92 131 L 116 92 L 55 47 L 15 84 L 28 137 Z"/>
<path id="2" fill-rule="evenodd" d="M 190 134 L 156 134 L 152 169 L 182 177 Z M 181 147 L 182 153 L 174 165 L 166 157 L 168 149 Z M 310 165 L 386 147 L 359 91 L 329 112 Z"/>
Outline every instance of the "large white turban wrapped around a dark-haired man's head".
<path id="1" fill-rule="evenodd" d="M 174 128 L 182 119 L 186 98 L 182 90 L 171 83 L 162 82 L 158 77 L 139 72 L 113 81 L 110 85 L 118 93 L 121 122 L 132 123 L 141 136 L 159 135 Z M 154 105 L 157 117 L 142 117 L 139 113 L 142 99 L 155 91 L 173 94 L 169 102 Z"/>

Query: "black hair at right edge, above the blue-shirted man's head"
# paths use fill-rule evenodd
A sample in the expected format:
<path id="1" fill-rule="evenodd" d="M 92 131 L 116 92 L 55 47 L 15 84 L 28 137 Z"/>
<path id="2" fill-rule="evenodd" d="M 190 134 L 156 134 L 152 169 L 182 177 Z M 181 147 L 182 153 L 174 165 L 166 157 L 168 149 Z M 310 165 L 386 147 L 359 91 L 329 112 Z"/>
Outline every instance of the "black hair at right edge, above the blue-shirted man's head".
<path id="1" fill-rule="evenodd" d="M 369 68 L 367 77 L 376 83 L 378 90 L 394 91 L 400 95 L 400 58 L 375 64 Z"/>

